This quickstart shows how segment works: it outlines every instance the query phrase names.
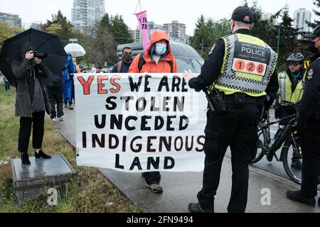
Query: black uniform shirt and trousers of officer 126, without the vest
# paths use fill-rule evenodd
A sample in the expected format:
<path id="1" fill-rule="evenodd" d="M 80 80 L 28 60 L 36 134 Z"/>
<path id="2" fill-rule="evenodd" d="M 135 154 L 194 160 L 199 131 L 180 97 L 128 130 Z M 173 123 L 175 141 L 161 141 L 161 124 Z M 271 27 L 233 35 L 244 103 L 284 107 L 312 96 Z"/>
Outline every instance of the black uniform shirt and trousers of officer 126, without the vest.
<path id="1" fill-rule="evenodd" d="M 239 29 L 236 33 L 250 35 L 250 30 Z M 215 82 L 220 75 L 225 55 L 225 43 L 218 40 L 201 68 L 201 74 L 189 81 L 189 86 L 196 90 L 205 89 Z M 267 94 L 271 97 L 271 106 L 279 88 L 277 70 L 274 70 Z M 249 163 L 257 151 L 257 122 L 259 121 L 259 104 L 261 98 L 245 96 L 239 104 L 234 95 L 227 96 L 227 112 L 223 114 L 207 113 L 205 170 L 203 172 L 203 189 L 198 193 L 201 209 L 213 211 L 214 196 L 220 181 L 223 157 L 230 146 L 233 168 L 233 185 L 228 212 L 245 212 L 249 180 Z M 190 205 L 189 205 L 190 206 Z M 189 208 L 190 209 L 190 208 Z"/>

